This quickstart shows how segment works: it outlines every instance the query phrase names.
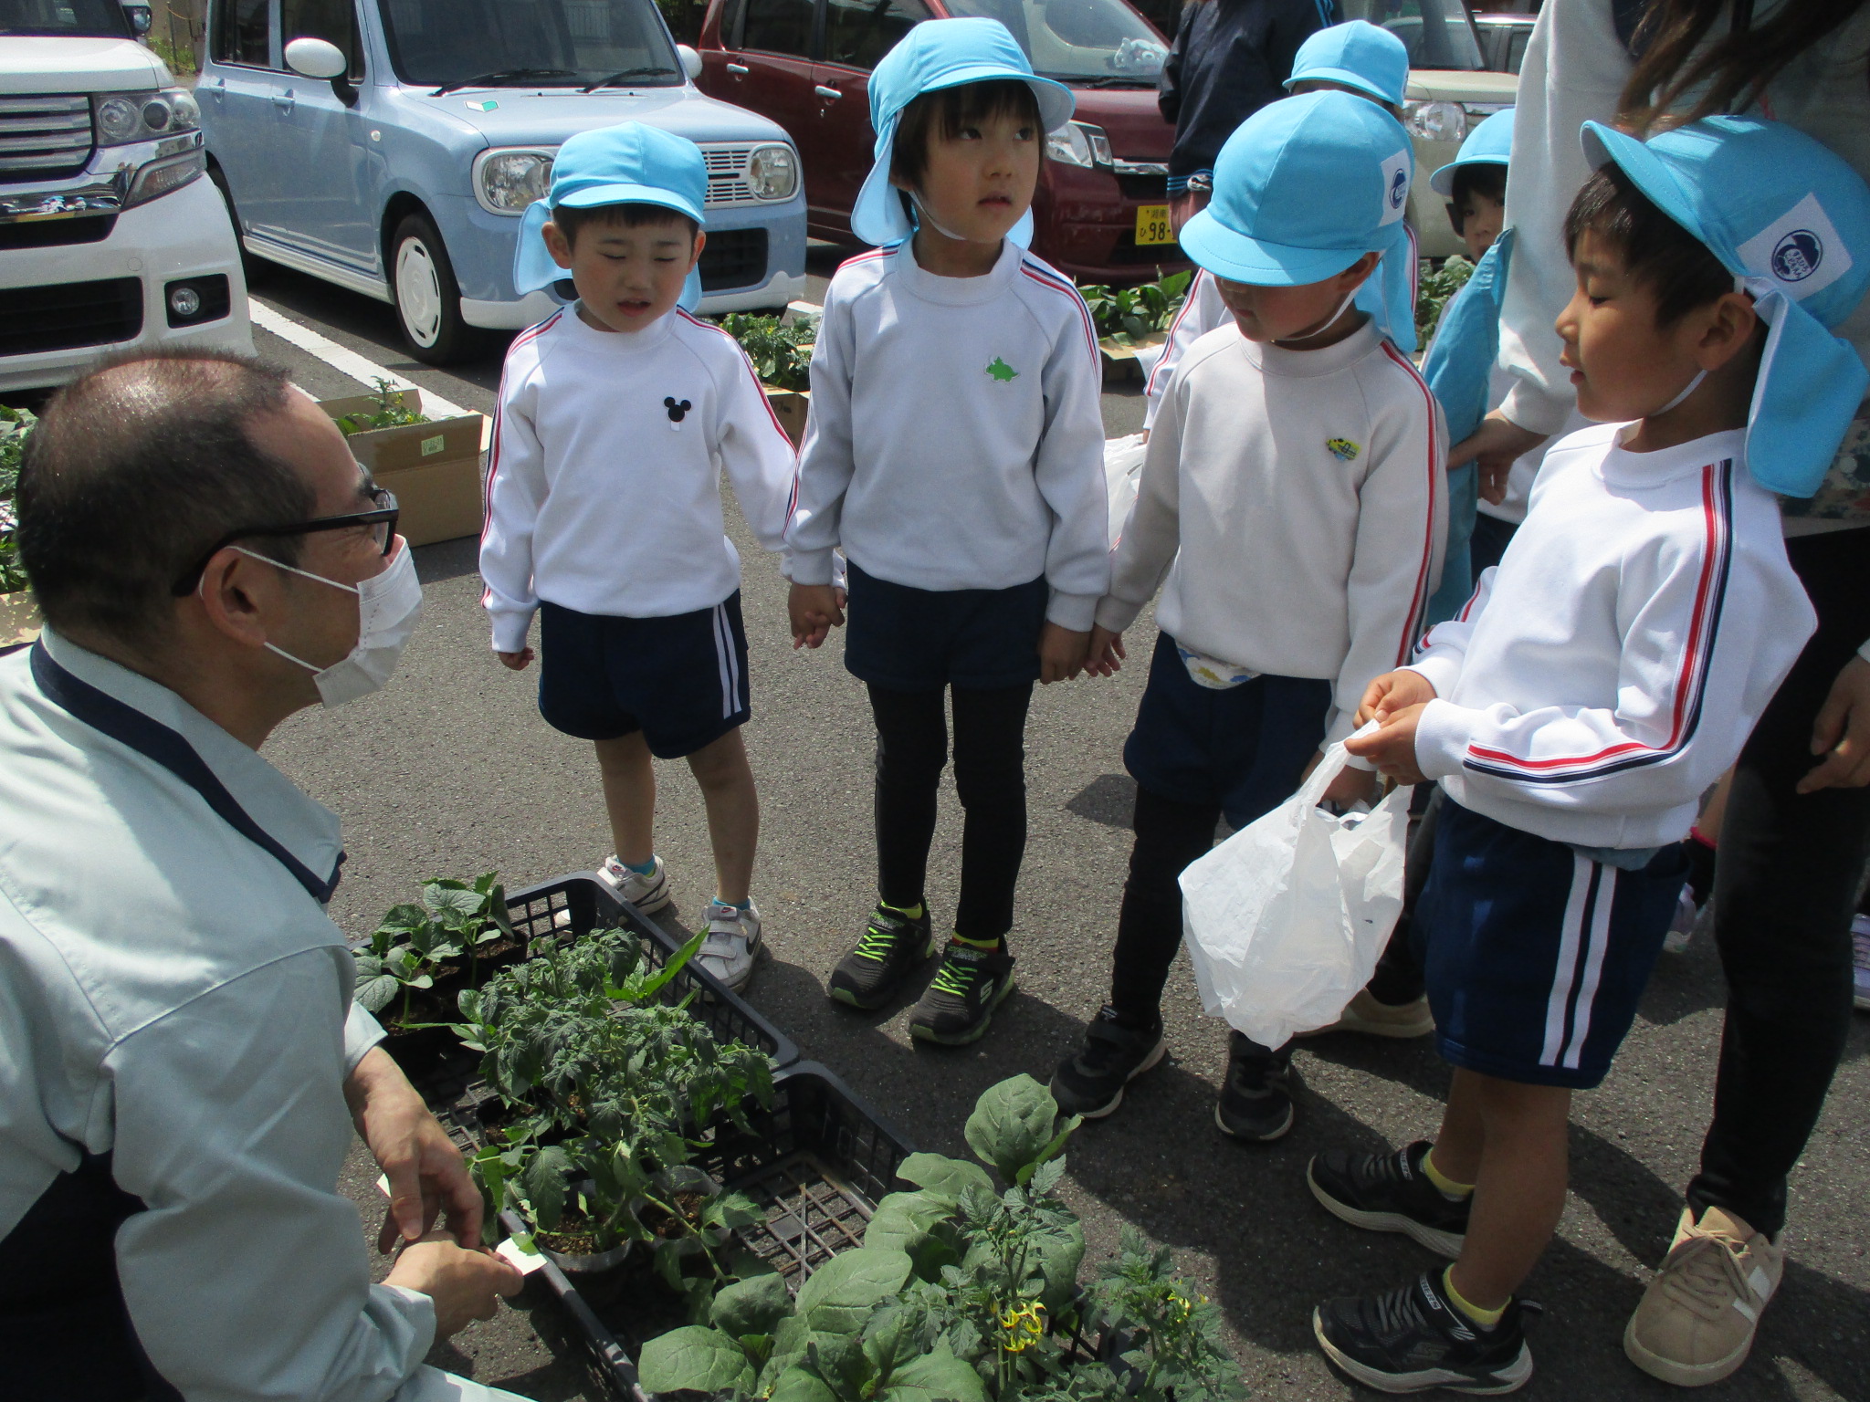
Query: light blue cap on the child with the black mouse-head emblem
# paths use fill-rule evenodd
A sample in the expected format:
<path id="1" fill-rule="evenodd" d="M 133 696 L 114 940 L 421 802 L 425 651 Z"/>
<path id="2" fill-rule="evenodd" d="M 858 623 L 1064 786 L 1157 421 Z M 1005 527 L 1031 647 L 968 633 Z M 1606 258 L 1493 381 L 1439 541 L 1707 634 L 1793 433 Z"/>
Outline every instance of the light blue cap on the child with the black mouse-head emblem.
<path id="1" fill-rule="evenodd" d="M 619 122 L 615 127 L 580 131 L 568 136 L 552 163 L 552 193 L 525 206 L 520 221 L 520 243 L 512 250 L 512 286 L 524 297 L 527 292 L 552 292 L 570 277 L 552 262 L 540 230 L 557 206 L 591 209 L 600 204 L 660 204 L 688 215 L 698 224 L 707 206 L 707 163 L 701 148 L 686 136 L 641 122 Z M 683 295 L 677 303 L 692 312 L 701 303 L 701 271 L 688 269 Z"/>

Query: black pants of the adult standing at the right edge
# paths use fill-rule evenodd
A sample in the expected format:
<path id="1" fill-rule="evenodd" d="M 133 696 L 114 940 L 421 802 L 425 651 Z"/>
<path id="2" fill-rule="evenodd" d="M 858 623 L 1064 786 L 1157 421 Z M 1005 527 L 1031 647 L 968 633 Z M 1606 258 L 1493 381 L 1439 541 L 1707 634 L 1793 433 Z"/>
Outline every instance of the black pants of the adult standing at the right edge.
<path id="1" fill-rule="evenodd" d="M 1851 1023 L 1851 908 L 1870 852 L 1870 789 L 1793 785 L 1816 763 L 1812 720 L 1870 637 L 1870 531 L 1786 542 L 1818 609 L 1741 751 L 1715 864 L 1715 942 L 1728 1017 L 1715 1122 L 1689 1204 L 1786 1224 L 1786 1174 L 1818 1123 Z"/>

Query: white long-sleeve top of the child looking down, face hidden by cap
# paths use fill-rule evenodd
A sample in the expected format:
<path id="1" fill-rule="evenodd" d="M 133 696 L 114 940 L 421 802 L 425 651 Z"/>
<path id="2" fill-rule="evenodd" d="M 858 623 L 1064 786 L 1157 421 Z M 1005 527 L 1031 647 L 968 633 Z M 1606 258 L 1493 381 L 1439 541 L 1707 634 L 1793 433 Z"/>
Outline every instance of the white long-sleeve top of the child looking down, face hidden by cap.
<path id="1" fill-rule="evenodd" d="M 1341 740 L 1442 578 L 1446 456 L 1442 408 L 1373 325 L 1309 351 L 1217 327 L 1163 394 L 1098 622 L 1128 628 L 1161 587 L 1184 647 L 1330 679 Z"/>

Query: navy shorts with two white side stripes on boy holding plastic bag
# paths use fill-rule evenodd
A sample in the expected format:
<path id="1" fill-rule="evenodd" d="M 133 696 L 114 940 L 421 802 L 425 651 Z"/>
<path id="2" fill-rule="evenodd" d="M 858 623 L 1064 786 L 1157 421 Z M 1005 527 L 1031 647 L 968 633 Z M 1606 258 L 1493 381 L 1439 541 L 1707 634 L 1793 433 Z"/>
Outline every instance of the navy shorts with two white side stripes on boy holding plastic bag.
<path id="1" fill-rule="evenodd" d="M 1623 871 L 1444 794 L 1410 927 L 1444 1060 L 1532 1086 L 1601 1082 L 1687 875 L 1679 843 Z"/>

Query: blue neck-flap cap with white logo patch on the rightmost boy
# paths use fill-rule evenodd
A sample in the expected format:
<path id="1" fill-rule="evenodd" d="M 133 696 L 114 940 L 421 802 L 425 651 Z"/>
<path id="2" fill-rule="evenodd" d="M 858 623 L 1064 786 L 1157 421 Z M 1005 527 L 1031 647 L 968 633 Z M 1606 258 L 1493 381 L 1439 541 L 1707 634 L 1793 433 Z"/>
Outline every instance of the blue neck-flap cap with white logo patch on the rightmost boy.
<path id="1" fill-rule="evenodd" d="M 1616 165 L 1707 245 L 1769 325 L 1747 413 L 1747 467 L 1808 497 L 1831 467 L 1870 370 L 1833 336 L 1870 288 L 1870 187 L 1780 122 L 1713 116 L 1647 142 L 1586 122 L 1591 168 Z"/>

